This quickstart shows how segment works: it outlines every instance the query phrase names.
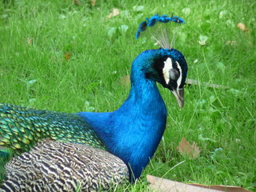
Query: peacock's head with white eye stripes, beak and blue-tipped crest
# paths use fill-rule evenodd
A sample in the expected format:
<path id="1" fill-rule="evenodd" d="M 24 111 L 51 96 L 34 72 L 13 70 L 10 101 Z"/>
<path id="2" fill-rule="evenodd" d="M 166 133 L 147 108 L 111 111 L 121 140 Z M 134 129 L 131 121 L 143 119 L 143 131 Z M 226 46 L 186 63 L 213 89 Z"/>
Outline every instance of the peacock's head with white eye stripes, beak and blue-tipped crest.
<path id="1" fill-rule="evenodd" d="M 182 18 L 174 17 L 173 15 L 168 17 L 167 15 L 158 16 L 156 14 L 151 18 L 146 18 L 146 21 L 138 26 L 136 38 L 140 37 L 142 31 L 145 31 L 148 27 L 155 26 L 158 22 L 163 24 L 168 22 L 185 23 Z M 144 60 L 142 70 L 146 74 L 146 78 L 159 82 L 163 87 L 169 89 L 174 94 L 178 106 L 182 109 L 184 105 L 183 88 L 188 70 L 186 60 L 180 51 L 172 48 L 175 33 L 172 41 L 169 42 L 170 28 L 165 25 L 165 27 L 158 27 L 156 29 L 150 35 L 157 41 L 161 48 L 158 50 L 146 50 L 140 54 L 139 60 Z"/>

